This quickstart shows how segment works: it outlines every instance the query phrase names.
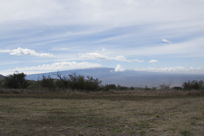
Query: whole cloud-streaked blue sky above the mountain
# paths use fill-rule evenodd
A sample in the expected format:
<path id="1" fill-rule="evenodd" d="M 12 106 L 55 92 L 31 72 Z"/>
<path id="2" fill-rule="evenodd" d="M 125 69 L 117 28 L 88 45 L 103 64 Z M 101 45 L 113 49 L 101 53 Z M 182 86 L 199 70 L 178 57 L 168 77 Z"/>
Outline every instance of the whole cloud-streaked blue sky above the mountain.
<path id="1" fill-rule="evenodd" d="M 0 0 L 0 74 L 204 74 L 204 0 Z"/>

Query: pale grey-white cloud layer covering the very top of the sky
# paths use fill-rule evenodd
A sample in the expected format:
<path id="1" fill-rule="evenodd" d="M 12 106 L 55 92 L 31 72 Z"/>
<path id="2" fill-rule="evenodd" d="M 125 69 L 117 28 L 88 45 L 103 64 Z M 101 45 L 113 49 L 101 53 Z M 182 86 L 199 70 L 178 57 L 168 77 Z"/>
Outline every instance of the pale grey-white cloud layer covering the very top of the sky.
<path id="1" fill-rule="evenodd" d="M 203 4 L 201 0 L 12 0 L 1 1 L 0 20 L 116 25 L 186 21 L 202 19 Z"/>

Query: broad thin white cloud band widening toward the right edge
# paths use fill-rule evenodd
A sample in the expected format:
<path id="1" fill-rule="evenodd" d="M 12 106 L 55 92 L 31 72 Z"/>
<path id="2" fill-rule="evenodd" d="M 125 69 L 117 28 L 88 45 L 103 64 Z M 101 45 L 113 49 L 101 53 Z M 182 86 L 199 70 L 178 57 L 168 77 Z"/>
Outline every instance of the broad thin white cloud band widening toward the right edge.
<path id="1" fill-rule="evenodd" d="M 203 56 L 204 37 L 190 39 L 188 41 L 168 44 L 168 46 L 157 45 L 148 47 L 136 47 L 134 49 L 120 50 L 115 49 L 116 52 L 124 55 L 134 56 L 152 56 L 152 55 L 183 55 L 183 56 Z"/>

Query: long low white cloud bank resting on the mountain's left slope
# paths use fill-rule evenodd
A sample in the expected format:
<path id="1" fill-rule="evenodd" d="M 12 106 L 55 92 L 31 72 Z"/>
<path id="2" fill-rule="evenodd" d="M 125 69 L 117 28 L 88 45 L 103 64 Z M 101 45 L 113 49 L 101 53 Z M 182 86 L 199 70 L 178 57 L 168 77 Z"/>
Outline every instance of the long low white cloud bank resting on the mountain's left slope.
<path id="1" fill-rule="evenodd" d="M 28 66 L 28 67 L 17 67 L 14 69 L 3 70 L 1 74 L 8 75 L 12 74 L 15 71 L 24 72 L 26 74 L 36 74 L 36 73 L 44 73 L 44 72 L 54 72 L 61 70 L 71 70 L 71 69 L 85 69 L 85 68 L 97 68 L 101 67 L 98 63 L 90 63 L 90 62 L 57 62 L 51 64 L 43 64 L 37 66 Z"/>

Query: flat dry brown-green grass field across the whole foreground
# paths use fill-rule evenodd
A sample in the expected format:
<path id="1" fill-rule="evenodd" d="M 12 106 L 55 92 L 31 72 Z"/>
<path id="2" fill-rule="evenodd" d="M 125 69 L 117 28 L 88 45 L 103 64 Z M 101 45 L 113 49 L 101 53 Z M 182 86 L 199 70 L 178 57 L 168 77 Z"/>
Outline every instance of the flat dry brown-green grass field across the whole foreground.
<path id="1" fill-rule="evenodd" d="M 118 98 L 0 96 L 0 136 L 204 136 L 203 96 Z"/>

